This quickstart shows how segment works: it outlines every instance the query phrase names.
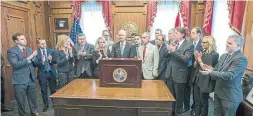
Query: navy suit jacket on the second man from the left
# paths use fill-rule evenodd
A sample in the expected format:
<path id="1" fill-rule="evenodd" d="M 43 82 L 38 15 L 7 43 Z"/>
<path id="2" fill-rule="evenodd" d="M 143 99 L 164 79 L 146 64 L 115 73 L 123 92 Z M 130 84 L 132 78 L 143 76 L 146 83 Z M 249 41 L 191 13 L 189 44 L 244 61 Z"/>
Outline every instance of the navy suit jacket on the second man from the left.
<path id="1" fill-rule="evenodd" d="M 40 49 L 37 49 L 37 56 L 35 57 L 35 60 L 34 60 L 34 65 L 36 67 L 38 67 L 38 78 L 41 79 L 41 78 L 44 78 L 43 77 L 43 73 L 46 71 L 45 69 L 45 64 L 42 62 L 42 53 L 41 53 L 41 50 Z M 47 52 L 47 56 L 48 55 L 51 55 L 53 56 L 53 52 L 54 50 L 53 49 L 50 49 L 50 48 L 46 48 L 46 52 Z M 49 61 L 49 65 L 50 65 L 50 72 L 53 74 L 54 77 L 56 77 L 56 69 L 54 67 L 54 64 L 56 64 L 56 59 L 55 57 L 52 57 L 52 60 Z"/>

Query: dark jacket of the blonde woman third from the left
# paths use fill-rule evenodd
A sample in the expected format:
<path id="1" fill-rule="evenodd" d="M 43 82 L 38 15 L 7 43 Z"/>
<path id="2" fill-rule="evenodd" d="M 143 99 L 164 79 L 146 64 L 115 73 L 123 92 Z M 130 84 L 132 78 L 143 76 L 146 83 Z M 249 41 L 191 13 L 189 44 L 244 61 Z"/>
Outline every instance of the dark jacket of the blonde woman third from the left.
<path id="1" fill-rule="evenodd" d="M 74 70 L 74 57 L 68 56 L 67 58 L 64 51 L 62 50 L 56 50 L 55 52 L 53 52 L 53 57 L 56 60 L 58 72 L 69 72 Z"/>

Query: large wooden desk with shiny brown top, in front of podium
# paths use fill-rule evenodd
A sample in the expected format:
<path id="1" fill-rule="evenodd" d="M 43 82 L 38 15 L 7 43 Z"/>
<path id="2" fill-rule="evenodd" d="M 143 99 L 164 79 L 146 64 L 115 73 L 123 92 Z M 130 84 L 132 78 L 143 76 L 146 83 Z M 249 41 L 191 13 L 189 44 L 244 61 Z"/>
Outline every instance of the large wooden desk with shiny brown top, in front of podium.
<path id="1" fill-rule="evenodd" d="M 98 79 L 75 79 L 50 97 L 55 116 L 171 116 L 175 101 L 160 80 L 143 80 L 142 88 L 107 88 Z"/>

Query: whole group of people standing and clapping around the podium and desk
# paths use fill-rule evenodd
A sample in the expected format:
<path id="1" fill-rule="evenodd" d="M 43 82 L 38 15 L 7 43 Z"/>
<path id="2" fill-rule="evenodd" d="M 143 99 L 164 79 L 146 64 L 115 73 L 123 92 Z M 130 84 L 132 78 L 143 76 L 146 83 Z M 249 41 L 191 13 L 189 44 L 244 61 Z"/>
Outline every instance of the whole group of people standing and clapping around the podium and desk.
<path id="1" fill-rule="evenodd" d="M 26 97 L 32 115 L 39 115 L 36 77 L 46 112 L 48 85 L 53 94 L 74 78 L 99 78 L 98 64 L 103 58 L 140 58 L 142 78 L 164 81 L 175 97 L 173 115 L 191 110 L 192 116 L 207 116 L 209 93 L 214 92 L 214 115 L 235 116 L 243 99 L 241 78 L 247 67 L 247 59 L 241 52 L 241 36 L 227 38 L 227 53 L 219 60 L 214 37 L 203 36 L 199 27 L 191 30 L 189 38 L 181 27 L 169 30 L 168 40 L 161 29 L 156 29 L 152 41 L 148 32 L 133 33 L 130 39 L 126 35 L 125 30 L 119 30 L 114 43 L 110 32 L 104 30 L 92 45 L 80 33 L 74 46 L 70 45 L 69 36 L 60 35 L 55 50 L 47 47 L 45 38 L 38 38 L 38 49 L 32 50 L 27 47 L 24 34 L 14 34 L 16 45 L 8 49 L 7 57 L 12 66 L 11 83 L 19 115 L 26 115 Z M 37 76 L 35 67 L 38 67 Z"/>

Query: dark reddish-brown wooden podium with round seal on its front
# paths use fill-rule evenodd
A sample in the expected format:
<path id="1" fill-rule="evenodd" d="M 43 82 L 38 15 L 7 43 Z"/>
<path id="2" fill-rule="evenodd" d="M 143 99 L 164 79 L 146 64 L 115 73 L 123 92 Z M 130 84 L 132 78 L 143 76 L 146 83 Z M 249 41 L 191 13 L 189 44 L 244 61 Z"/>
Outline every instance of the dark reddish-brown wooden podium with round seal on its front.
<path id="1" fill-rule="evenodd" d="M 139 58 L 106 58 L 99 60 L 100 87 L 141 88 Z"/>

